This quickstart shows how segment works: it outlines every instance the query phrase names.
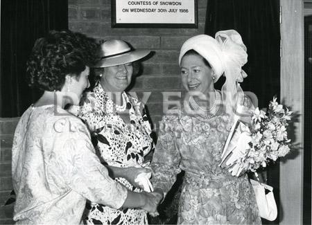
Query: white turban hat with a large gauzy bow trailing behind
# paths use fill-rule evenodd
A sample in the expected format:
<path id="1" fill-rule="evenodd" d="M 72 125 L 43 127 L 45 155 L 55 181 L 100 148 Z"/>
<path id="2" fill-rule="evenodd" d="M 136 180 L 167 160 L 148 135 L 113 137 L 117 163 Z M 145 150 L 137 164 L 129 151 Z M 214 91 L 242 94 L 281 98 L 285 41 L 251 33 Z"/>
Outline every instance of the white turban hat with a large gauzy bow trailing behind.
<path id="1" fill-rule="evenodd" d="M 243 93 L 238 82 L 243 82 L 243 78 L 247 77 L 241 69 L 248 57 L 241 35 L 236 30 L 221 30 L 216 33 L 215 39 L 209 35 L 191 37 L 181 47 L 180 65 L 184 54 L 192 49 L 209 62 L 216 75 L 214 82 L 221 75 L 225 75 L 226 81 L 222 87 L 223 103 L 227 106 L 227 112 L 232 111 L 236 108 L 239 92 Z"/>

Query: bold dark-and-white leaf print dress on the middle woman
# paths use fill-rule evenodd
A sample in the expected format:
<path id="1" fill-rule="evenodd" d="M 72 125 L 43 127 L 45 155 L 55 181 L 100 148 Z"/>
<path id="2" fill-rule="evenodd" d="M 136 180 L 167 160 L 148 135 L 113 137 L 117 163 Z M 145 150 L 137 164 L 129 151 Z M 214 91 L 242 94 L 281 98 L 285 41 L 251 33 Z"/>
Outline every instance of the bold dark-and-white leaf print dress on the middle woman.
<path id="1" fill-rule="evenodd" d="M 87 93 L 78 111 L 92 132 L 93 143 L 103 164 L 119 168 L 135 167 L 144 163 L 144 156 L 153 149 L 153 139 L 148 117 L 139 100 L 127 95 L 126 109 L 129 110 L 130 124 L 116 114 L 110 97 L 98 84 L 93 92 Z M 116 181 L 135 192 L 140 189 L 126 179 Z M 87 224 L 148 224 L 147 213 L 139 208 L 114 209 L 102 204 L 87 204 Z"/>

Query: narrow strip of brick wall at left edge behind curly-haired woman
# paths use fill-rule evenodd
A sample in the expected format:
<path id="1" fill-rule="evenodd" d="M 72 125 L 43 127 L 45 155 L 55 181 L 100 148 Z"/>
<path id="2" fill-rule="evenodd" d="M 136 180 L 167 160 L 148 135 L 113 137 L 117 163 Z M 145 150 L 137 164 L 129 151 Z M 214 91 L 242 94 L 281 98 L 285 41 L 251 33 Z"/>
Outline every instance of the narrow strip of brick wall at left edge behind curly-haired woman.
<path id="1" fill-rule="evenodd" d="M 0 224 L 12 224 L 13 206 L 3 206 L 12 190 L 11 147 L 19 118 L 0 118 Z"/>

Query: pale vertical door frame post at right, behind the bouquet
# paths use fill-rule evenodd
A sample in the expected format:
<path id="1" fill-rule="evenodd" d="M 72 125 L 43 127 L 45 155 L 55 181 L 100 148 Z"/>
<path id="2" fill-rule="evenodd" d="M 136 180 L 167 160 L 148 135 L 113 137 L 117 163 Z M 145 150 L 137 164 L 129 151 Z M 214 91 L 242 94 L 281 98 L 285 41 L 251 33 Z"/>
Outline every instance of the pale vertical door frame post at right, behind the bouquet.
<path id="1" fill-rule="evenodd" d="M 280 163 L 280 224 L 303 221 L 304 143 L 304 0 L 280 0 L 281 100 L 300 114 L 295 142 L 302 149 L 294 159 Z"/>

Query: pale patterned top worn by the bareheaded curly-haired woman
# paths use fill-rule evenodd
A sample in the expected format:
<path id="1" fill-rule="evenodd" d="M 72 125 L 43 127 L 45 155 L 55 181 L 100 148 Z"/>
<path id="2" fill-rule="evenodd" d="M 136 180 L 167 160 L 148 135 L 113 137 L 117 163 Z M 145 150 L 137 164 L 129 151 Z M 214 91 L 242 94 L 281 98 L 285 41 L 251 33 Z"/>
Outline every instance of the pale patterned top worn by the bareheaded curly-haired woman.
<path id="1" fill-rule="evenodd" d="M 127 190 L 98 160 L 85 124 L 60 107 L 29 107 L 12 146 L 17 224 L 80 224 L 86 199 L 120 208 Z"/>

